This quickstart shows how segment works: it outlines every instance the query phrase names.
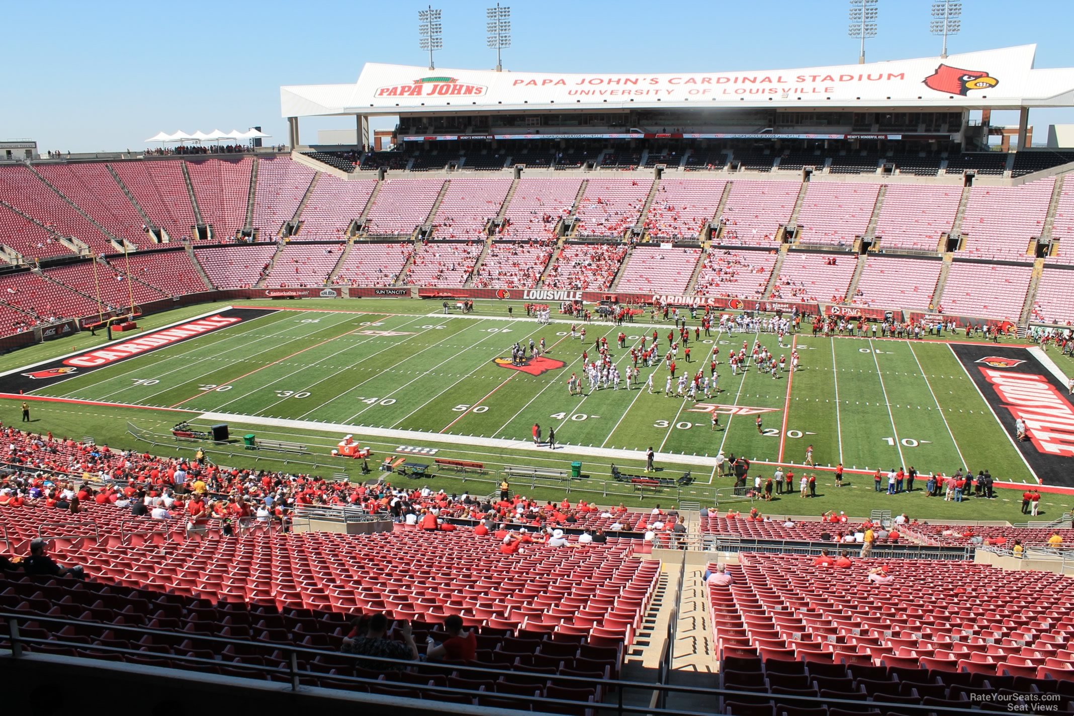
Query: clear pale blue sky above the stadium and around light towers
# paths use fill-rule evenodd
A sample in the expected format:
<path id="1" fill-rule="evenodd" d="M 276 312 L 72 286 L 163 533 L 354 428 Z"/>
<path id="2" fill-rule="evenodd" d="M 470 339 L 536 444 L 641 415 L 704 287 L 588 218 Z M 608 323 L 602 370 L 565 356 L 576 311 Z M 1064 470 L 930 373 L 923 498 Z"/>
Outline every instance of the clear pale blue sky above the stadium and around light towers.
<path id="1" fill-rule="evenodd" d="M 504 67 L 550 72 L 764 70 L 857 60 L 843 0 L 679 2 L 502 0 L 511 5 Z M 417 11 L 427 2 L 95 3 L 6 0 L 0 43 L 4 99 L 0 138 L 32 137 L 42 151 L 142 148 L 164 130 L 261 126 L 285 142 L 279 86 L 350 83 L 366 61 L 424 64 Z M 445 49 L 438 67 L 495 65 L 484 10 L 494 2 L 441 1 Z M 962 32 L 948 52 L 1039 45 L 1037 68 L 1074 67 L 1074 3 L 962 0 Z M 881 0 L 867 60 L 940 54 L 928 32 L 930 0 Z M 1011 113 L 993 123 L 1015 123 Z M 1074 109 L 1030 113 L 1037 143 Z M 317 129 L 345 118 L 304 119 Z"/>

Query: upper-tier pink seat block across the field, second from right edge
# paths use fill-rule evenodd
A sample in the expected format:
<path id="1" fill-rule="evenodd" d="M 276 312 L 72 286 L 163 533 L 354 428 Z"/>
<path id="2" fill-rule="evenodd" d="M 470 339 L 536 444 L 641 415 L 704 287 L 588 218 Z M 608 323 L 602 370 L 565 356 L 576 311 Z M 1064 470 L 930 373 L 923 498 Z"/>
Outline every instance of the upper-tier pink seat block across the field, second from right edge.
<path id="1" fill-rule="evenodd" d="M 973 187 L 962 218 L 959 257 L 1033 261 L 1030 239 L 1040 236 L 1055 177 L 1020 187 Z M 1017 318 L 1017 316 L 1016 316 Z"/>

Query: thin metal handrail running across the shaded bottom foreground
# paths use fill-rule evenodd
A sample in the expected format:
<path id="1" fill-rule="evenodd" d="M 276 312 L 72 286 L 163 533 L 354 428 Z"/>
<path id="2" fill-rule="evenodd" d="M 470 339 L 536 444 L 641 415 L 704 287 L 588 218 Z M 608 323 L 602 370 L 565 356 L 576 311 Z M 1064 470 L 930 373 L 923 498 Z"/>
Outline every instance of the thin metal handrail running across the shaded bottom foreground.
<path id="1" fill-rule="evenodd" d="M 24 624 L 24 623 L 52 624 L 52 625 L 56 626 L 55 630 L 59 631 L 63 627 L 67 627 L 67 626 L 71 625 L 70 617 L 50 617 L 50 616 L 26 615 L 26 614 L 19 614 L 19 613 L 15 613 L 15 612 L 6 612 L 5 611 L 5 612 L 0 612 L 0 619 L 2 619 L 3 622 L 6 622 L 6 624 L 8 624 L 8 631 L 9 631 L 9 637 L 10 637 L 10 640 L 11 640 L 11 654 L 12 654 L 12 657 L 14 657 L 16 659 L 27 658 L 27 654 L 26 654 L 25 648 L 24 648 L 24 646 L 27 645 L 27 644 L 30 644 L 30 645 L 32 645 L 32 644 L 48 644 L 48 645 L 53 645 L 53 646 L 70 647 L 70 648 L 73 648 L 73 649 L 91 649 L 91 651 L 95 651 L 95 652 L 107 652 L 107 653 L 111 653 L 111 654 L 131 655 L 131 656 L 141 657 L 141 658 L 146 658 L 146 657 L 154 658 L 154 654 L 153 653 L 140 652 L 140 651 L 131 649 L 131 648 L 125 648 L 125 647 L 121 647 L 121 646 L 108 646 L 108 645 L 104 645 L 104 644 L 87 645 L 84 642 L 70 642 L 70 641 L 66 641 L 66 640 L 50 640 L 50 639 L 47 639 L 47 638 L 25 637 L 25 635 L 23 635 L 19 632 L 19 625 Z M 128 625 L 124 625 L 124 624 L 105 624 L 105 623 L 100 623 L 100 622 L 82 622 L 82 620 L 79 620 L 78 624 L 83 628 L 99 627 L 102 632 L 110 630 L 110 631 L 122 631 L 122 632 L 131 632 L 131 633 L 135 633 L 135 634 L 155 635 L 155 637 L 163 637 L 163 635 L 174 637 L 176 633 L 183 633 L 183 632 L 166 631 L 166 630 L 163 630 L 163 629 L 148 629 L 148 628 L 145 628 L 145 627 L 133 627 L 133 626 L 128 626 Z M 189 635 L 189 634 L 187 634 L 187 635 Z M 440 663 L 440 662 L 436 662 L 436 661 L 417 661 L 416 662 L 413 660 L 390 659 L 390 658 L 386 658 L 386 657 L 365 656 L 365 655 L 360 655 L 360 654 L 347 654 L 347 653 L 339 653 L 339 652 L 328 652 L 328 651 L 324 651 L 324 649 L 309 648 L 309 647 L 306 647 L 306 646 L 294 646 L 294 645 L 290 645 L 290 644 L 279 644 L 279 643 L 275 643 L 275 642 L 270 643 L 270 642 L 256 642 L 256 641 L 246 641 L 246 640 L 236 640 L 236 639 L 222 639 L 222 638 L 219 638 L 219 637 L 207 637 L 207 635 L 200 635 L 200 634 L 197 635 L 195 639 L 200 643 L 216 644 L 221 651 L 224 647 L 227 647 L 227 646 L 234 646 L 236 644 L 241 644 L 244 647 L 249 647 L 249 648 L 252 648 L 252 649 L 263 649 L 265 652 L 284 652 L 285 655 L 287 656 L 287 664 L 288 666 L 287 666 L 286 669 L 281 669 L 279 667 L 265 667 L 263 664 L 240 663 L 240 662 L 232 662 L 232 661 L 222 661 L 222 660 L 217 660 L 217 659 L 205 659 L 203 657 L 186 656 L 186 655 L 166 655 L 166 656 L 162 656 L 162 658 L 166 658 L 166 659 L 172 660 L 172 661 L 189 662 L 189 663 L 192 663 L 192 664 L 211 664 L 211 666 L 214 666 L 214 667 L 226 666 L 229 669 L 230 668 L 236 668 L 238 670 L 249 670 L 249 671 L 253 672 L 256 675 L 260 675 L 260 674 L 277 674 L 277 675 L 281 675 L 281 676 L 286 675 L 288 677 L 288 681 L 290 682 L 291 690 L 292 691 L 299 691 L 299 690 L 302 689 L 301 682 L 302 682 L 302 678 L 304 678 L 304 677 L 305 678 L 315 678 L 315 680 L 326 678 L 326 680 L 331 680 L 331 681 L 334 681 L 334 682 L 344 682 L 344 683 L 353 683 L 353 684 L 376 684 L 376 685 L 379 685 L 379 686 L 384 686 L 384 685 L 396 686 L 397 685 L 397 686 L 404 687 L 404 688 L 413 688 L 413 686 L 415 686 L 413 684 L 410 684 L 410 683 L 407 683 L 407 682 L 392 682 L 392 681 L 371 680 L 371 678 L 365 678 L 365 677 L 361 677 L 361 676 L 347 676 L 347 675 L 344 675 L 344 674 L 326 674 L 326 673 L 318 672 L 318 671 L 309 671 L 308 669 L 299 669 L 299 657 L 300 656 L 308 657 L 308 658 L 311 658 L 311 659 L 313 658 L 317 658 L 319 656 L 331 656 L 333 658 L 345 657 L 345 658 L 351 658 L 355 662 L 364 661 L 364 662 L 379 663 L 379 664 L 382 664 L 386 668 L 386 670 L 394 670 L 395 668 L 401 668 L 401 670 L 402 670 L 402 669 L 410 669 L 410 668 L 413 668 L 416 666 L 420 666 L 421 669 L 440 670 L 440 671 L 444 671 L 445 673 L 454 672 L 454 671 L 464 671 L 464 672 L 467 672 L 467 673 L 480 674 L 480 675 L 484 675 L 487 677 L 492 677 L 492 678 L 498 678 L 504 673 L 502 670 L 498 670 L 498 669 L 485 669 L 483 667 L 460 666 L 458 663 Z M 31 655 L 32 655 L 32 653 L 31 653 Z M 71 658 L 77 658 L 77 657 L 71 657 Z M 586 678 L 586 677 L 581 677 L 581 676 L 563 676 L 563 675 L 556 675 L 555 680 L 557 682 L 562 682 L 562 683 L 566 683 L 566 684 L 575 684 L 575 685 L 578 685 L 579 687 L 582 687 L 582 688 L 590 687 L 594 683 L 597 683 L 597 684 L 608 684 L 608 683 L 613 684 L 614 687 L 615 687 L 615 689 L 616 689 L 616 691 L 618 691 L 618 693 L 619 693 L 619 703 L 618 704 L 609 704 L 609 703 L 599 703 L 598 704 L 598 703 L 592 703 L 592 702 L 569 701 L 569 700 L 563 700 L 563 699 L 549 699 L 549 698 L 545 698 L 545 697 L 518 696 L 518 695 L 508 695 L 508 693 L 498 693 L 498 692 L 496 692 L 494 695 L 491 695 L 491 696 L 492 696 L 492 698 L 503 699 L 503 700 L 523 700 L 525 703 L 532 703 L 534 705 L 538 705 L 538 704 L 570 705 L 570 706 L 576 706 L 576 707 L 577 706 L 582 706 L 582 707 L 586 707 L 586 708 L 599 708 L 601 711 L 615 711 L 618 714 L 626 714 L 626 713 L 632 713 L 633 714 L 633 713 L 637 713 L 637 714 L 652 714 L 653 716 L 711 716 L 711 712 L 687 712 L 687 711 L 681 711 L 681 710 L 669 711 L 669 710 L 666 710 L 664 707 L 654 708 L 654 707 L 651 707 L 651 706 L 648 706 L 648 705 L 647 706 L 630 706 L 630 705 L 624 703 L 623 692 L 626 691 L 626 690 L 628 690 L 628 689 L 636 689 L 636 690 L 642 690 L 642 691 L 649 691 L 649 692 L 658 691 L 658 692 L 663 692 L 663 693 L 686 693 L 686 695 L 694 695 L 694 696 L 707 696 L 707 697 L 710 697 L 710 698 L 713 699 L 713 703 L 715 703 L 717 699 L 724 698 L 724 697 L 729 697 L 732 700 L 736 697 L 743 697 L 743 698 L 748 698 L 748 699 L 756 699 L 758 697 L 758 693 L 755 692 L 755 691 L 743 692 L 743 691 L 736 691 L 734 689 L 713 689 L 713 688 L 698 687 L 698 686 L 672 686 L 670 684 L 652 684 L 652 683 L 634 682 L 634 681 L 612 681 L 612 682 L 605 682 L 604 680 L 599 680 L 598 682 L 594 682 L 594 680 Z M 451 687 L 423 686 L 421 688 L 422 688 L 423 691 L 433 691 L 435 693 L 441 693 L 442 692 L 442 693 L 466 693 L 466 695 L 470 695 L 470 696 L 474 695 L 474 691 L 468 691 L 468 690 L 465 690 L 465 689 L 456 689 L 456 688 L 451 688 Z M 780 695 L 769 695 L 769 696 L 771 696 L 772 698 L 778 698 L 781 701 L 792 701 L 792 702 L 801 704 L 803 706 L 827 704 L 827 705 L 836 705 L 836 706 L 844 706 L 845 705 L 845 707 L 848 708 L 848 710 L 860 710 L 860 707 L 861 707 L 861 702 L 860 701 L 854 701 L 854 700 L 850 700 L 850 699 L 832 699 L 832 698 L 824 698 L 824 699 L 822 699 L 822 698 L 818 698 L 818 697 L 807 697 L 807 696 L 783 695 L 783 693 L 780 693 Z M 424 701 L 423 700 L 422 705 L 425 708 L 430 707 L 429 701 Z M 891 704 L 891 703 L 885 703 L 885 702 L 880 702 L 880 701 L 872 702 L 871 707 L 880 708 L 881 711 L 896 711 L 896 710 L 898 710 L 898 711 L 910 711 L 910 712 L 923 713 L 923 714 L 927 714 L 930 711 L 935 711 L 934 706 L 925 706 L 925 705 L 919 705 L 919 704 L 903 704 L 903 703 Z M 979 712 L 978 711 L 973 711 L 971 708 L 946 708 L 945 707 L 944 708 L 944 713 L 949 713 L 949 714 L 967 714 L 967 715 L 970 715 L 970 716 L 978 715 L 979 716 Z"/>

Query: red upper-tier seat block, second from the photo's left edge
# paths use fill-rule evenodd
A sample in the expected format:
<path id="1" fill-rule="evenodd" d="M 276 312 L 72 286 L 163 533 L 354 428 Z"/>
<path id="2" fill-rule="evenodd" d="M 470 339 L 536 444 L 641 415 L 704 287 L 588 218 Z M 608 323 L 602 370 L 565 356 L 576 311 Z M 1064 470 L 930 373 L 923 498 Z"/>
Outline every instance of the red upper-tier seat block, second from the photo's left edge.
<path id="1" fill-rule="evenodd" d="M 119 238 L 146 244 L 145 219 L 116 184 L 107 164 L 41 164 L 41 176 Z"/>

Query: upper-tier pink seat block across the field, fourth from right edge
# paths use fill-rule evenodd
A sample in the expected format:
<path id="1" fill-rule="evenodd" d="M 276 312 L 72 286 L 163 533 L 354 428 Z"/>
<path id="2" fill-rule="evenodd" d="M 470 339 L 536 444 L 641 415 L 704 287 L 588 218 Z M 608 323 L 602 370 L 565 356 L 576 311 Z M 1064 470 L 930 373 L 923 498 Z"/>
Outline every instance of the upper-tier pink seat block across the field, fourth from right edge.
<path id="1" fill-rule="evenodd" d="M 811 181 L 798 213 L 801 244 L 851 246 L 869 228 L 879 184 Z"/>

